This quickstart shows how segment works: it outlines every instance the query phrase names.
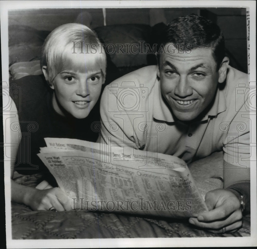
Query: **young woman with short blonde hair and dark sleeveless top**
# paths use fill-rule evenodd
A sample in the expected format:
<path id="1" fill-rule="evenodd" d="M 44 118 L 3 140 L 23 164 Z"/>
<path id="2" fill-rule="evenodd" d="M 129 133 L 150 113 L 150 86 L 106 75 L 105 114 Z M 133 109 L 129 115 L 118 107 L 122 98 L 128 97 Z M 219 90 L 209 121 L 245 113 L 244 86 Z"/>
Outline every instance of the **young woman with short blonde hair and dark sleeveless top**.
<path id="1" fill-rule="evenodd" d="M 12 82 L 20 88 L 20 96 L 13 101 L 20 106 L 22 133 L 13 169 L 22 174 L 41 172 L 46 176 L 48 170 L 36 155 L 45 146 L 45 137 L 92 142 L 98 138 L 91 124 L 100 120 L 99 96 L 105 81 L 106 54 L 88 27 L 64 24 L 45 40 L 41 68 L 41 76 Z M 14 96 L 13 89 L 10 90 Z M 71 210 L 68 197 L 59 188 L 39 190 L 12 180 L 11 189 L 12 201 L 33 210 Z"/>

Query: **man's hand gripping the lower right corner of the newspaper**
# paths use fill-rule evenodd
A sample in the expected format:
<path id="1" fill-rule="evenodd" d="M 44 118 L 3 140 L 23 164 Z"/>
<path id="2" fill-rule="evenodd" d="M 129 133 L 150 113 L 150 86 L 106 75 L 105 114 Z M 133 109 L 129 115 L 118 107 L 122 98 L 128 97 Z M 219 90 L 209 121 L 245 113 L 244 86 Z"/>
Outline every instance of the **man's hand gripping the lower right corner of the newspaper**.
<path id="1" fill-rule="evenodd" d="M 242 226 L 241 204 L 232 191 L 209 191 L 205 203 L 209 211 L 198 214 L 197 218 L 190 218 L 189 223 L 213 233 L 235 232 Z"/>

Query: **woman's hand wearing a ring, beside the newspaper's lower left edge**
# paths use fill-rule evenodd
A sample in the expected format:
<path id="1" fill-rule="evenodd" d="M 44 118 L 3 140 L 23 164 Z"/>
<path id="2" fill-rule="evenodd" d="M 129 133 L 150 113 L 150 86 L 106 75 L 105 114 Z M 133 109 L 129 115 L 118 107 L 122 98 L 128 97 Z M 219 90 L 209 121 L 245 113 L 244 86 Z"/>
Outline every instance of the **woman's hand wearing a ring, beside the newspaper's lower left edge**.
<path id="1" fill-rule="evenodd" d="M 24 204 L 33 210 L 70 211 L 70 200 L 60 188 L 31 189 L 24 197 Z"/>

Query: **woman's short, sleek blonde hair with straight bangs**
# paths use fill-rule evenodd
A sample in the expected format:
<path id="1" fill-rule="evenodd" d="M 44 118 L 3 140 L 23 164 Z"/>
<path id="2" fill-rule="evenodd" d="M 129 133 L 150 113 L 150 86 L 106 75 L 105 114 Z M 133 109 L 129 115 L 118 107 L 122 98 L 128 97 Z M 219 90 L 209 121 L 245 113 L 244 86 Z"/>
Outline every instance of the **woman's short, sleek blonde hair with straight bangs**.
<path id="1" fill-rule="evenodd" d="M 40 64 L 47 67 L 48 82 L 67 65 L 76 64 L 77 54 L 85 55 L 85 64 L 100 68 L 105 79 L 106 54 L 96 33 L 85 25 L 67 23 L 54 29 L 43 44 Z M 85 64 L 77 63 L 76 67 L 85 71 Z"/>

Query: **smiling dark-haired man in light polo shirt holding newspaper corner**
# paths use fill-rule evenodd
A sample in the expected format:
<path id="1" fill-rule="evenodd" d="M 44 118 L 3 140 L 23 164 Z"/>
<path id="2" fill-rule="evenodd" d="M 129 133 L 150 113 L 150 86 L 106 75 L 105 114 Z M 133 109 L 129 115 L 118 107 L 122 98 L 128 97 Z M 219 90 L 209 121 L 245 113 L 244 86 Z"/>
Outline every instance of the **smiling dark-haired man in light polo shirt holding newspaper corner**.
<path id="1" fill-rule="evenodd" d="M 186 163 L 223 151 L 225 166 L 216 165 L 216 171 L 224 169 L 224 189 L 208 192 L 209 211 L 189 222 L 215 233 L 234 232 L 242 226 L 242 212 L 250 212 L 249 118 L 243 94 L 236 95 L 248 77 L 228 65 L 223 34 L 201 16 L 173 20 L 161 41 L 157 66 L 105 88 L 100 139 L 108 143 L 109 134 L 114 145 L 175 155 Z M 112 131 L 114 122 L 118 129 Z M 147 137 L 156 133 L 153 144 Z"/>

